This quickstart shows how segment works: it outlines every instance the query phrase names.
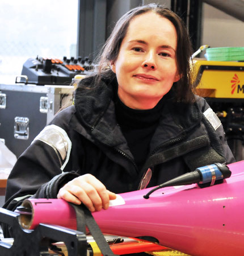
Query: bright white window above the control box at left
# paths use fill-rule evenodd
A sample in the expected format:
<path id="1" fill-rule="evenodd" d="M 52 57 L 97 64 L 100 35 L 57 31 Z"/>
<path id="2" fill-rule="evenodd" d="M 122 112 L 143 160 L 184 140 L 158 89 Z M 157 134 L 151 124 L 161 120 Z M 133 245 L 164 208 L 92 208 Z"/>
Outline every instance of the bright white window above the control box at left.
<path id="1" fill-rule="evenodd" d="M 77 55 L 78 0 L 1 0 L 0 83 L 13 84 L 30 57 Z"/>

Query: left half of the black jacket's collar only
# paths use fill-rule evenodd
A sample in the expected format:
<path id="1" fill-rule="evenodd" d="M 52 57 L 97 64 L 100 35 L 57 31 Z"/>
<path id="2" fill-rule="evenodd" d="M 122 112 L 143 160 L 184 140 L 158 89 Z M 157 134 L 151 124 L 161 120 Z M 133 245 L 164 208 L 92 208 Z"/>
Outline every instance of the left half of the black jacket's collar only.
<path id="1" fill-rule="evenodd" d="M 75 90 L 76 116 L 92 141 L 128 150 L 127 142 L 116 122 L 112 100 L 112 86 L 117 86 L 117 80 L 102 79 L 99 86 L 95 86 L 95 79 L 96 77 L 87 77 L 81 80 Z"/>

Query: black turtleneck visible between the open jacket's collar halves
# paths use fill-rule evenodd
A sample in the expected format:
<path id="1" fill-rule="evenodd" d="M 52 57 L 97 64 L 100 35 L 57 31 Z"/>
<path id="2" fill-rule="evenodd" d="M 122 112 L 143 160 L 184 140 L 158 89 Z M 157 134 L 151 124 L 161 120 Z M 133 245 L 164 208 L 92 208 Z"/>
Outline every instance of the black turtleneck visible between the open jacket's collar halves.
<path id="1" fill-rule="evenodd" d="M 161 100 L 153 109 L 131 109 L 124 105 L 115 93 L 117 122 L 134 156 L 138 171 L 141 170 L 149 154 L 149 144 L 158 126 L 162 108 L 163 101 Z"/>

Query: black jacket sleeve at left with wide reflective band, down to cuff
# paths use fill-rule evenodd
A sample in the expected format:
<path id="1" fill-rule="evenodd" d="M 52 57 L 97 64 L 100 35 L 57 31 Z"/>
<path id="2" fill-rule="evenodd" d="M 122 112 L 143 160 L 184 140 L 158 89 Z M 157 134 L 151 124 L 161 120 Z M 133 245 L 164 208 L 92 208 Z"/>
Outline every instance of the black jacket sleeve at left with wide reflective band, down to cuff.
<path id="1" fill-rule="evenodd" d="M 15 210 L 27 198 L 57 198 L 58 190 L 79 176 L 75 172 L 63 172 L 69 161 L 71 141 L 69 127 L 60 127 L 63 114 L 34 139 L 19 157 L 7 180 L 5 205 Z M 55 125 L 57 123 L 58 125 Z M 3 232 L 6 230 L 3 228 Z"/>

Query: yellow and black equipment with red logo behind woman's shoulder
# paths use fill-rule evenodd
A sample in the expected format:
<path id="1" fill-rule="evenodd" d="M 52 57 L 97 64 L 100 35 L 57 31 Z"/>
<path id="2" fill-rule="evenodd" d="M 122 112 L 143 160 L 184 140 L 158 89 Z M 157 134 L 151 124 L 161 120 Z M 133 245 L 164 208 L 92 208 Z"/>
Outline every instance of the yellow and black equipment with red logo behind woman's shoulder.
<path id="1" fill-rule="evenodd" d="M 235 160 L 244 160 L 244 62 L 193 59 L 196 94 L 220 118 Z"/>

